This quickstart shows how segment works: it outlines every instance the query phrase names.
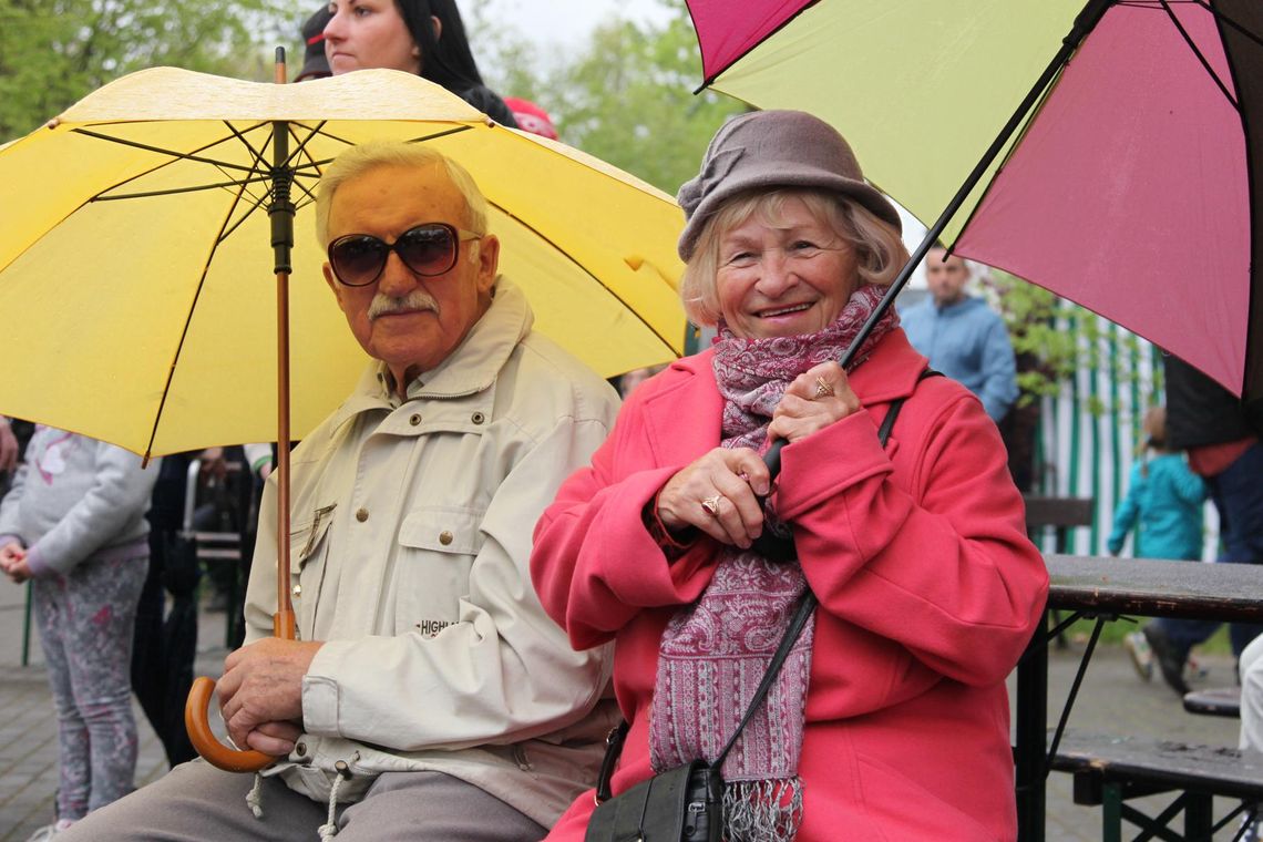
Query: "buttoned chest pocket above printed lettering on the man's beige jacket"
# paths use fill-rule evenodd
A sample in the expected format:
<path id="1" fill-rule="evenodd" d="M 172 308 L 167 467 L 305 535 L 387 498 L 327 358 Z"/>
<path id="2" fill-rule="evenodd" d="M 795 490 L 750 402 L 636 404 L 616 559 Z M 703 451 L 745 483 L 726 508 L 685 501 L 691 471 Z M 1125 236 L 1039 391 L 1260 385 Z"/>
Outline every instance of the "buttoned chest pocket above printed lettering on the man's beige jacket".
<path id="1" fill-rule="evenodd" d="M 436 636 L 460 620 L 470 571 L 482 548 L 482 511 L 426 506 L 399 525 L 395 566 L 395 634 Z"/>

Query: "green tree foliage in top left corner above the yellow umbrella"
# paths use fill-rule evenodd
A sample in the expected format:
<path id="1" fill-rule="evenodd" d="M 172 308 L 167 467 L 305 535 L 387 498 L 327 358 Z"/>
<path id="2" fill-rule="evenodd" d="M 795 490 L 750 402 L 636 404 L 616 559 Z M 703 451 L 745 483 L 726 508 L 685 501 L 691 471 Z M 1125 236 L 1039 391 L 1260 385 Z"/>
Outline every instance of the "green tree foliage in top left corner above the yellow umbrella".
<path id="1" fill-rule="evenodd" d="M 0 0 L 0 141 L 145 67 L 272 78 L 298 40 L 296 0 Z"/>

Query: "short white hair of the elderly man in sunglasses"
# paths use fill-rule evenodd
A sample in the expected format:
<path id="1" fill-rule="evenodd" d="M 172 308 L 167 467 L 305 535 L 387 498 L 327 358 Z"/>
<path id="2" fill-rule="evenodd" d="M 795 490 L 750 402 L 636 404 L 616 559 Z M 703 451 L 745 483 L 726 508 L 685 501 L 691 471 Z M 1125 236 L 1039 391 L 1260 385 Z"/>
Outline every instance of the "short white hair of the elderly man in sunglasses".
<path id="1" fill-rule="evenodd" d="M 474 234 L 486 234 L 488 203 L 474 177 L 456 160 L 419 143 L 374 140 L 345 150 L 321 175 L 316 192 L 316 236 L 328 246 L 328 213 L 337 188 L 378 167 L 441 167 L 452 186 L 465 198 L 466 223 Z"/>

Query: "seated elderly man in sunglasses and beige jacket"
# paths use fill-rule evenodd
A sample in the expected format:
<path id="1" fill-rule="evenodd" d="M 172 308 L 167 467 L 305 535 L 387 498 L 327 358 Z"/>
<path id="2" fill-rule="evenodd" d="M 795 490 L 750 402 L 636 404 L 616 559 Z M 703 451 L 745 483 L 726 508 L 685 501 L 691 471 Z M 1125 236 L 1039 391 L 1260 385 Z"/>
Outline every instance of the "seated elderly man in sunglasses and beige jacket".
<path id="1" fill-rule="evenodd" d="M 325 175 L 325 278 L 375 359 L 293 453 L 298 641 L 269 637 L 269 483 L 248 644 L 218 684 L 258 779 L 197 760 L 67 839 L 538 839 L 595 780 L 606 653 L 575 653 L 527 573 L 532 526 L 616 396 L 532 332 L 486 202 L 421 145 Z M 251 809 L 246 808 L 249 803 Z"/>

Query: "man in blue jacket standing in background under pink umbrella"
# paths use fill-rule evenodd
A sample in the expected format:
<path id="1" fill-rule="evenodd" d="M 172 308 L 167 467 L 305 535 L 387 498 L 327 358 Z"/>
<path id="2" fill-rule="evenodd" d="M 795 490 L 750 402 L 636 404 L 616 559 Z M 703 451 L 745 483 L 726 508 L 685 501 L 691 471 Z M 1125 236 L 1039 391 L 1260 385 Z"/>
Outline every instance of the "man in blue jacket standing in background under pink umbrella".
<path id="1" fill-rule="evenodd" d="M 930 299 L 901 313 L 912 346 L 931 367 L 978 395 L 991 420 L 1000 423 L 1018 399 L 1017 366 L 1009 331 L 981 298 L 965 293 L 969 265 L 935 246 L 926 255 Z"/>

